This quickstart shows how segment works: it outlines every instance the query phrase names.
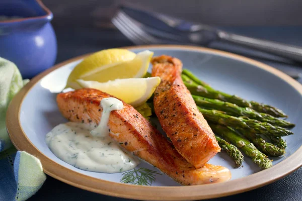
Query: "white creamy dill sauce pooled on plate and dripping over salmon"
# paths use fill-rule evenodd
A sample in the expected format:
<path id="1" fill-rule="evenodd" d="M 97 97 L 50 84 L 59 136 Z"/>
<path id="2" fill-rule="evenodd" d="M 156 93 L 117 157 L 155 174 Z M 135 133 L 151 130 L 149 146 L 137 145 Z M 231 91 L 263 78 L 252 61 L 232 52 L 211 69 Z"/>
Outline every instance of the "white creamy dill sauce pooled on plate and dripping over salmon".
<path id="1" fill-rule="evenodd" d="M 59 124 L 46 135 L 46 144 L 55 156 L 79 169 L 116 173 L 133 169 L 137 157 L 123 150 L 109 137 L 110 112 L 121 110 L 123 103 L 116 98 L 103 98 L 103 114 L 98 127 L 67 122 Z"/>

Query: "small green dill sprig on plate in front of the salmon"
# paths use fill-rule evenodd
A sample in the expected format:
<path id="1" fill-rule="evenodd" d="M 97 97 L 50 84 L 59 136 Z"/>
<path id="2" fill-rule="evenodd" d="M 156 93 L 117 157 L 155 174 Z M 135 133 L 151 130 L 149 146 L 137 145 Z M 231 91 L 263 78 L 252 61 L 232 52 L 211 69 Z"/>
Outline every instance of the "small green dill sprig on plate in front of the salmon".
<path id="1" fill-rule="evenodd" d="M 151 185 L 156 180 L 155 174 L 162 175 L 154 170 L 140 167 L 122 174 L 121 182 L 134 185 Z"/>

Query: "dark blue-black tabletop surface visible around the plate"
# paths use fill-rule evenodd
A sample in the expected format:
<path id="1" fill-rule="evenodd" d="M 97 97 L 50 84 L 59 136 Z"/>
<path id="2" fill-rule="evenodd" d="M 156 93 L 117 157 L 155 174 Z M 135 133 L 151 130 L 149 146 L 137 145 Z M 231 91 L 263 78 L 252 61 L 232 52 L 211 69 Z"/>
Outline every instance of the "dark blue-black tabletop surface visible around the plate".
<path id="1" fill-rule="evenodd" d="M 53 21 L 58 41 L 57 62 L 70 59 L 75 56 L 95 52 L 106 48 L 123 47 L 133 45 L 119 31 L 115 29 L 102 29 L 92 25 L 77 25 L 66 22 L 64 26 L 59 19 Z M 227 31 L 262 39 L 270 39 L 278 42 L 302 46 L 302 27 L 226 27 Z M 257 59 L 281 70 L 294 70 L 302 73 L 300 64 L 292 63 L 282 58 L 262 54 L 256 51 L 235 47 L 230 44 L 214 42 L 212 48 L 240 52 L 253 59 Z M 276 62 L 278 60 L 279 62 Z M 298 81 L 302 83 L 302 78 Z M 292 174 L 264 187 L 248 192 L 217 198 L 215 200 L 302 200 L 302 168 Z M 50 176 L 41 189 L 33 195 L 34 200 L 128 200 L 111 197 L 82 190 L 58 181 Z M 211 199 L 212 200 L 212 199 Z"/>

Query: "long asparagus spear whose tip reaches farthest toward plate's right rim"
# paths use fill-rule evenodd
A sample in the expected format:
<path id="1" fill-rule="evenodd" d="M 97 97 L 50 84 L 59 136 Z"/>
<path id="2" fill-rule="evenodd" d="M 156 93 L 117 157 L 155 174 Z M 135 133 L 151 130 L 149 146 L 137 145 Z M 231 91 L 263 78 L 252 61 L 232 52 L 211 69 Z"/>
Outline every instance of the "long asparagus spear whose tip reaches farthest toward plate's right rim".
<path id="1" fill-rule="evenodd" d="M 261 122 L 267 122 L 274 126 L 280 126 L 284 128 L 292 128 L 295 126 L 290 122 L 275 118 L 271 115 L 258 113 L 251 108 L 242 108 L 232 103 L 223 102 L 218 99 L 210 99 L 199 95 L 192 95 L 192 96 L 193 99 L 195 100 L 196 105 L 204 109 L 219 110 L 225 112 L 227 115 L 236 116 L 236 117 L 245 116 L 250 119 L 255 119 Z"/>

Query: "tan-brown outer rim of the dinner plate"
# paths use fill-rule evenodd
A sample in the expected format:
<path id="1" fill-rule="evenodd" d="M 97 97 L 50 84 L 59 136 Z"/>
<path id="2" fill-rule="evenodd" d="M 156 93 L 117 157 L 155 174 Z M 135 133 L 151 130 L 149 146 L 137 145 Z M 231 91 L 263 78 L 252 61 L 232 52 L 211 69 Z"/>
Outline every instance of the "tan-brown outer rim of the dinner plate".
<path id="1" fill-rule="evenodd" d="M 300 94 L 302 94 L 302 85 L 288 75 L 271 66 L 236 54 L 202 47 L 181 45 L 147 45 L 123 48 L 130 50 L 140 48 L 175 48 L 191 51 L 193 50 L 209 52 L 230 57 L 257 66 L 280 77 L 281 79 L 289 83 L 292 87 L 294 87 Z M 272 183 L 302 166 L 302 147 L 299 147 L 288 158 L 269 169 L 262 170 L 249 176 L 227 181 L 224 183 L 213 183 L 195 186 L 138 186 L 97 179 L 59 165 L 58 163 L 45 156 L 42 152 L 40 152 L 27 138 L 20 122 L 21 105 L 25 95 L 30 91 L 30 89 L 48 73 L 70 62 L 82 59 L 88 55 L 89 54 L 85 54 L 69 59 L 37 75 L 20 90 L 20 92 L 13 98 L 9 106 L 6 124 L 13 144 L 15 145 L 15 147 L 17 147 L 18 150 L 27 151 L 28 153 L 38 157 L 41 160 L 43 170 L 46 174 L 70 185 L 111 196 L 140 200 L 196 200 L 221 197 L 252 190 Z"/>

